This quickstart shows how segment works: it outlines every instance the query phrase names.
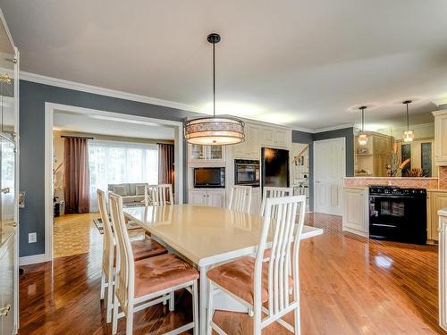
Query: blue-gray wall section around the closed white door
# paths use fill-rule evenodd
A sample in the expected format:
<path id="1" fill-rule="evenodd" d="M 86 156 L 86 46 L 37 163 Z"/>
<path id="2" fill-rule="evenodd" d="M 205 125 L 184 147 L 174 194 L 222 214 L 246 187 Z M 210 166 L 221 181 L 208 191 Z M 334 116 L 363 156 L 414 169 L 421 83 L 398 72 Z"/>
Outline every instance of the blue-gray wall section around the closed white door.
<path id="1" fill-rule="evenodd" d="M 354 129 L 330 130 L 315 134 L 305 131 L 293 130 L 291 141 L 293 143 L 307 143 L 309 145 L 309 209 L 314 209 L 314 141 L 330 138 L 346 138 L 346 176 L 354 175 Z"/>

